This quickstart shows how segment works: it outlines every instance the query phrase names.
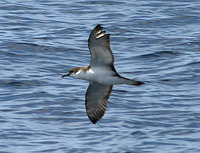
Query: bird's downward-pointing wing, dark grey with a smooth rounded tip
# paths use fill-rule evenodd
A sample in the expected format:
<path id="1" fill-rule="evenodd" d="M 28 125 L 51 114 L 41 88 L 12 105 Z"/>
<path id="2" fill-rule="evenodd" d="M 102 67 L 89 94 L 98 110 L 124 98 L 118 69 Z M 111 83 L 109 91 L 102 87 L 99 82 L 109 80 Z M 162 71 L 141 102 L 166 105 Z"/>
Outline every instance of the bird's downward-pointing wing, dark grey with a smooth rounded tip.
<path id="1" fill-rule="evenodd" d="M 90 82 L 85 95 L 86 112 L 92 123 L 96 123 L 105 113 L 112 85 Z"/>

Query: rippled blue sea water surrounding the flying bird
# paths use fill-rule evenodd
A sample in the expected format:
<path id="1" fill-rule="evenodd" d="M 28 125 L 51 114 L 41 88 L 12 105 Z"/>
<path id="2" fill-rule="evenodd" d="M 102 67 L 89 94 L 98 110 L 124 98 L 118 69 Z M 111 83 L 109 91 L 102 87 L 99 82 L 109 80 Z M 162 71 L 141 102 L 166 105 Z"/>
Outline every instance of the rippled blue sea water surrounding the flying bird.
<path id="1" fill-rule="evenodd" d="M 200 152 L 200 2 L 0 2 L 0 152 Z M 118 72 L 104 117 L 85 112 L 88 82 L 61 75 L 90 62 L 102 24 Z"/>

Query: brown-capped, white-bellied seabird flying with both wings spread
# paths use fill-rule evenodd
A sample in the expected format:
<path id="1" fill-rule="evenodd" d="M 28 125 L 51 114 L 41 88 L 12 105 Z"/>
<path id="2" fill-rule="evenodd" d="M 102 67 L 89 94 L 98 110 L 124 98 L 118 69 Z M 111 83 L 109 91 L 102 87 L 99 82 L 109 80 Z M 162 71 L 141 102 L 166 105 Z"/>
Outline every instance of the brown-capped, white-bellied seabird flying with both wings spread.
<path id="1" fill-rule="evenodd" d="M 100 24 L 92 30 L 88 47 L 91 54 L 90 65 L 73 68 L 62 77 L 71 76 L 90 81 L 85 105 L 89 119 L 95 124 L 105 113 L 113 85 L 142 85 L 144 82 L 125 78 L 117 73 L 110 49 L 110 34 L 106 34 Z"/>

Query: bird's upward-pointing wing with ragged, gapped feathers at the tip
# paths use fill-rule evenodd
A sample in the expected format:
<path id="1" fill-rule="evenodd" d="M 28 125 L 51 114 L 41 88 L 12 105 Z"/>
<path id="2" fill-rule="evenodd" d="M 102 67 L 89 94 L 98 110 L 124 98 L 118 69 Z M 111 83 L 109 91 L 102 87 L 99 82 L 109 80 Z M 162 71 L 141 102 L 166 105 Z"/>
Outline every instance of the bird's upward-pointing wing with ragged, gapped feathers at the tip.
<path id="1" fill-rule="evenodd" d="M 102 31 L 101 25 L 97 25 L 91 32 L 88 39 L 88 46 L 91 53 L 90 66 L 113 65 L 114 56 L 110 49 L 110 34 Z"/>

